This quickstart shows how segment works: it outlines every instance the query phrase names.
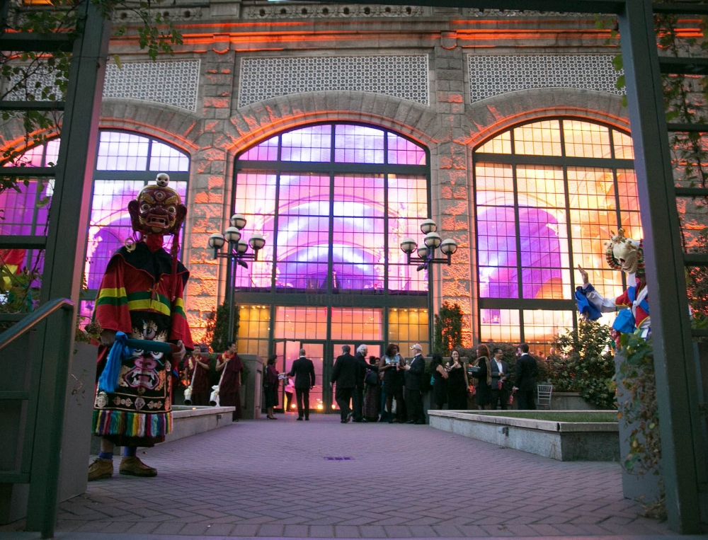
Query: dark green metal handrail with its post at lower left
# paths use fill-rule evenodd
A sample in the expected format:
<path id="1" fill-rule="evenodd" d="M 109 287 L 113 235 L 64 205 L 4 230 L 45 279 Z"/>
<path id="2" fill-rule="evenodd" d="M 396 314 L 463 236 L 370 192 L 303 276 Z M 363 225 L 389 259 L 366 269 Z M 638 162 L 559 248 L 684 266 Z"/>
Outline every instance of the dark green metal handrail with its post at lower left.
<path id="1" fill-rule="evenodd" d="M 31 355 L 29 369 L 39 374 L 39 381 L 44 385 L 47 383 L 54 386 L 52 392 L 53 403 L 45 403 L 42 409 L 53 410 L 52 425 L 49 430 L 38 428 L 38 415 L 40 414 L 40 384 L 30 384 L 29 389 L 20 391 L 0 391 L 0 401 L 16 400 L 28 401 L 26 425 L 23 433 L 18 434 L 18 438 L 23 438 L 21 465 L 19 469 L 13 471 L 0 471 L 0 483 L 29 483 L 30 501 L 29 507 L 39 508 L 36 512 L 28 513 L 28 529 L 40 530 L 42 538 L 51 538 L 54 535 L 54 526 L 57 518 L 59 474 L 37 470 L 32 464 L 35 454 L 41 452 L 45 454 L 45 460 L 50 470 L 59 471 L 59 458 L 62 447 L 62 431 L 64 429 L 64 401 L 67 391 L 67 377 L 69 372 L 69 361 L 72 352 L 72 340 L 74 316 L 76 304 L 67 298 L 57 298 L 48 301 L 37 310 L 26 315 L 21 321 L 15 323 L 11 328 L 0 334 L 0 351 L 8 347 L 25 333 L 44 323 L 47 318 L 57 311 L 63 311 L 61 331 L 56 336 L 57 352 L 55 362 L 45 362 L 40 354 Z M 29 356 L 29 355 L 28 355 Z M 7 359 L 5 359 L 7 360 Z M 35 365 L 35 362 L 38 365 Z M 42 493 L 43 502 L 41 505 L 33 505 L 32 497 L 34 493 Z M 31 522 L 31 524 L 30 524 Z"/>

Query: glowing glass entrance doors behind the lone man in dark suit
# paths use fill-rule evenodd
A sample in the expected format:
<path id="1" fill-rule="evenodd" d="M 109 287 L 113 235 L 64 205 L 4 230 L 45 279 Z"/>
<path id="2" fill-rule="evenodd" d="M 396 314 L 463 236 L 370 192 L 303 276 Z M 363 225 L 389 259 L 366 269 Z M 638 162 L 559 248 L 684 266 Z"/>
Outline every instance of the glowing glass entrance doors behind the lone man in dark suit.
<path id="1" fill-rule="evenodd" d="M 300 349 L 305 350 L 305 356 L 314 364 L 315 386 L 310 390 L 310 410 L 324 411 L 323 374 L 324 374 L 324 341 L 316 340 L 275 340 L 275 354 L 278 355 L 278 371 L 289 373 L 292 362 L 299 357 Z M 329 387 L 329 379 L 327 379 Z M 280 384 L 280 403 L 283 412 L 297 413 L 295 398 L 295 377 L 283 379 Z"/>

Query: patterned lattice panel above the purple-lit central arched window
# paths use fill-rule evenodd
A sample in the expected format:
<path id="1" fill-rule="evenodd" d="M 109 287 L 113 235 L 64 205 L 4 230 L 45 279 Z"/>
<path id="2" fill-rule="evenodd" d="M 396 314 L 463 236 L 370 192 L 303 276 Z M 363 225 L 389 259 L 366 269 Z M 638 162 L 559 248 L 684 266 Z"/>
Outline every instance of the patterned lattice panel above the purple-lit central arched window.
<path id="1" fill-rule="evenodd" d="M 239 107 L 320 90 L 375 92 L 428 105 L 428 56 L 244 58 Z"/>

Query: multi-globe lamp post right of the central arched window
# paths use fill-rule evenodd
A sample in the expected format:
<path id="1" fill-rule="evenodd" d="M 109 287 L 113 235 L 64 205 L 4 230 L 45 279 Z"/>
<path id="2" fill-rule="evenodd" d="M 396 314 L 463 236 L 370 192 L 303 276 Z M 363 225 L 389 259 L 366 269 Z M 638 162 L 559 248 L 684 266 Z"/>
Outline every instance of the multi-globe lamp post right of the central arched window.
<path id="1" fill-rule="evenodd" d="M 438 230 L 438 224 L 432 219 L 426 219 L 421 223 L 421 232 L 425 234 L 423 245 L 418 247 L 418 243 L 412 238 L 405 238 L 401 242 L 401 251 L 406 253 L 408 264 L 417 264 L 418 272 L 428 270 L 428 347 L 433 352 L 433 276 L 430 271 L 432 265 L 445 263 L 452 264 L 452 255 L 457 251 L 457 242 L 452 239 L 442 240 Z M 435 257 L 435 251 L 440 248 L 445 257 Z M 418 256 L 413 256 L 413 251 L 417 251 Z"/>

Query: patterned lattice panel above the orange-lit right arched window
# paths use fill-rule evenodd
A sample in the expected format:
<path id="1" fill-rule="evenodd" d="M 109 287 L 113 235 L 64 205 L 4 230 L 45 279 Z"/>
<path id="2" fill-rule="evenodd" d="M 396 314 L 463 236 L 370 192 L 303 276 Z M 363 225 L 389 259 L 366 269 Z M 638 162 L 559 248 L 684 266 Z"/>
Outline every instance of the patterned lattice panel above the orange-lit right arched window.
<path id="1" fill-rule="evenodd" d="M 469 98 L 529 88 L 587 88 L 621 95 L 610 54 L 467 55 Z"/>

